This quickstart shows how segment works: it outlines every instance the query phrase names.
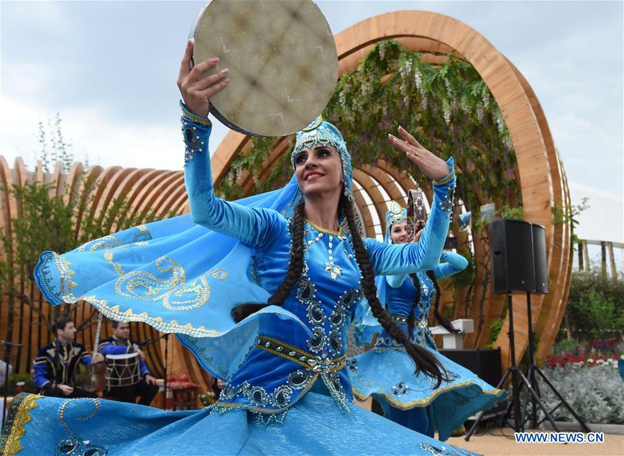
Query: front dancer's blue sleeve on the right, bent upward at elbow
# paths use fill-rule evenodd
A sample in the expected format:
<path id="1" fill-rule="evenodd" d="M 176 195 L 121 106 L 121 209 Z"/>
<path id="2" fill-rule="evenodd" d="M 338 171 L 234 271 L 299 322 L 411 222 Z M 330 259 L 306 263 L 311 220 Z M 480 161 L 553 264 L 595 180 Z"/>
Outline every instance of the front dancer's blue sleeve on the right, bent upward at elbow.
<path id="1" fill-rule="evenodd" d="M 450 218 L 453 217 L 455 196 L 453 157 L 446 163 L 450 167 L 450 173 L 433 183 L 431 212 L 419 242 L 385 244 L 376 239 L 364 239 L 376 275 L 391 276 L 426 271 L 437 266 L 448 233 Z"/>

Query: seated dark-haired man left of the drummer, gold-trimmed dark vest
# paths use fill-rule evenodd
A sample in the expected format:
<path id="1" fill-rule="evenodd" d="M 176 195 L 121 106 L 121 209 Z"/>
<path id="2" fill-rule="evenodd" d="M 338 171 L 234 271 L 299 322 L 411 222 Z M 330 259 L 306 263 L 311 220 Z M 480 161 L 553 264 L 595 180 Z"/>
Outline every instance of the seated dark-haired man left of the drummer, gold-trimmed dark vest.
<path id="1" fill-rule="evenodd" d="M 92 357 L 83 344 L 74 341 L 76 326 L 70 318 L 56 319 L 52 329 L 56 338 L 39 349 L 33 362 L 34 381 L 40 394 L 61 398 L 95 397 L 76 386 L 74 377 L 79 362 L 88 366 L 103 362 L 104 357 L 99 353 Z"/>

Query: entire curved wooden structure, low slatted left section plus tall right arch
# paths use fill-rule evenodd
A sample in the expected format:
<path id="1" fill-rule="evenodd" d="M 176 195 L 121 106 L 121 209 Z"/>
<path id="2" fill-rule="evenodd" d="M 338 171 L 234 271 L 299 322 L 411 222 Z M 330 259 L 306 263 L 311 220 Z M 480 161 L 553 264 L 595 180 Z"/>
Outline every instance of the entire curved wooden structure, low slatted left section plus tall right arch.
<path id="1" fill-rule="evenodd" d="M 559 323 L 564 314 L 569 282 L 571 279 L 571 230 L 568 224 L 555 226 L 553 208 L 566 207 L 570 204 L 568 185 L 562 162 L 559 158 L 550 130 L 539 101 L 532 92 L 530 85 L 520 72 L 505 56 L 478 32 L 451 17 L 434 12 L 416 10 L 389 12 L 371 17 L 347 28 L 335 37 L 339 55 L 339 74 L 351 71 L 362 60 L 366 53 L 380 40 L 394 38 L 406 49 L 423 51 L 423 59 L 437 63 L 444 60 L 444 55 L 455 53 L 455 56 L 471 63 L 484 79 L 494 99 L 498 103 L 516 151 L 517 170 L 523 199 L 525 219 L 540 223 L 546 227 L 546 243 L 548 253 L 548 274 L 550 294 L 535 296 L 532 299 L 534 330 L 540 344 L 537 355 L 544 357 L 550 350 Z M 212 172 L 215 183 L 223 179 L 230 163 L 240 154 L 246 153 L 251 147 L 250 138 L 230 131 L 219 144 L 212 157 Z M 180 152 L 181 153 L 181 152 Z M 278 141 L 270 153 L 260 174 L 260 180 L 269 176 L 271 166 L 277 163 L 284 153 L 289 153 L 285 138 Z M 10 169 L 6 160 L 0 156 L 0 228 L 11 234 L 11 219 L 19 218 L 22 210 L 6 187 L 24 185 L 27 180 L 37 180 L 53 184 L 52 192 L 69 199 L 74 190 L 87 182 L 98 181 L 99 185 L 90 203 L 96 213 L 106 210 L 116 197 L 125 195 L 130 203 L 130 211 L 141 212 L 146 208 L 157 208 L 158 214 L 176 212 L 182 214 L 189 211 L 187 195 L 184 187 L 182 171 L 165 171 L 155 169 L 123 169 L 121 167 L 91 167 L 85 174 L 82 164 L 76 163 L 67 175 L 62 174 L 60 164 L 51 175 L 44 175 L 39 168 L 34 173 L 26 172 L 24 162 L 18 158 Z M 383 220 L 389 199 L 405 201 L 407 190 L 415 187 L 414 180 L 405 172 L 378 160 L 375 166 L 361 167 L 354 170 L 355 199 L 360 212 L 366 234 L 369 236 L 381 233 L 379 221 Z M 244 172 L 239 178 L 243 194 L 253 192 L 255 183 L 251 174 Z M 3 189 L 4 188 L 4 189 Z M 427 189 L 425 189 L 425 192 Z M 430 192 L 430 191 L 429 191 Z M 430 194 L 428 195 L 431 196 Z M 76 230 L 80 230 L 81 217 L 76 220 Z M 115 224 L 110 226 L 115 230 Z M 461 238 L 464 233 L 455 233 Z M 487 255 L 487 246 L 478 235 L 474 236 L 474 251 L 477 257 Z M 503 298 L 484 289 L 482 273 L 475 278 L 475 287 L 469 292 L 459 291 L 459 299 L 471 303 L 467 316 L 478 319 L 481 314 L 484 330 L 478 335 L 466 335 L 466 346 L 484 346 L 487 343 L 489 323 L 500 318 L 503 312 Z M 47 343 L 47 328 L 40 325 L 40 313 L 49 314 L 49 305 L 42 303 L 36 287 L 23 284 L 24 292 L 29 294 L 38 306 L 38 311 L 26 305 L 13 303 L 13 313 L 8 312 L 5 297 L 0 299 L 0 339 L 10 339 L 24 344 L 19 351 L 18 371 L 27 372 L 30 360 L 38 346 Z M 482 308 L 479 308 L 480 297 L 485 296 Z M 443 302 L 448 301 L 450 293 L 444 292 Z M 450 298 L 452 300 L 452 298 Z M 516 354 L 521 355 L 528 343 L 525 301 L 521 296 L 514 299 L 516 326 Z M 76 323 L 87 316 L 81 310 L 76 316 Z M 458 315 L 460 316 L 460 315 Z M 463 315 L 461 315 L 463 316 Z M 7 333 L 7 325 L 13 322 L 11 335 Z M 133 329 L 135 338 L 144 339 L 155 335 L 154 330 L 136 323 Z M 138 332 L 138 334 L 137 334 Z M 502 349 L 503 368 L 507 365 L 509 344 L 507 341 L 507 320 L 500 330 L 495 346 Z M 94 338 L 92 332 L 85 332 L 82 341 L 90 345 Z M 192 379 L 206 385 L 210 380 L 189 352 L 183 350 L 170 338 L 169 366 L 173 364 L 174 373 L 187 372 Z M 162 365 L 164 343 L 155 344 L 149 351 L 151 364 Z"/>

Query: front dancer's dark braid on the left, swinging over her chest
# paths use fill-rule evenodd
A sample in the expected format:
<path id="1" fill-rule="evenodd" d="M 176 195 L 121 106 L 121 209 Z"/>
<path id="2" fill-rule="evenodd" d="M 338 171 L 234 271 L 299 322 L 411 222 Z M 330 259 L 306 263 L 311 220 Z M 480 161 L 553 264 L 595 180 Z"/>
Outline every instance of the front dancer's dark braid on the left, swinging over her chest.
<path id="1" fill-rule="evenodd" d="M 290 262 L 286 277 L 273 296 L 269 298 L 266 304 L 263 303 L 242 303 L 232 309 L 232 317 L 236 323 L 246 319 L 254 312 L 267 307 L 268 305 L 283 305 L 287 296 L 292 292 L 297 280 L 301 277 L 303 271 L 303 253 L 305 246 L 303 244 L 303 227 L 305 225 L 304 204 L 299 203 L 294 212 L 292 221 L 292 246 L 290 249 Z"/>

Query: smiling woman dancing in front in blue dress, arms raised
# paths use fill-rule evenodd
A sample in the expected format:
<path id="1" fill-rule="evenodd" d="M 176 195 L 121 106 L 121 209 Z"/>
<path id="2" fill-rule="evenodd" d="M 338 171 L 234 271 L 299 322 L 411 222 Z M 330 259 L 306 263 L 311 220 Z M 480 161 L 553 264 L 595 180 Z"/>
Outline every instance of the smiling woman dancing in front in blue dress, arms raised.
<path id="1" fill-rule="evenodd" d="M 215 60 L 190 70 L 191 55 L 189 43 L 178 80 L 191 214 L 65 255 L 44 253 L 35 276 L 53 304 L 84 300 L 117 321 L 176 333 L 201 366 L 226 381 L 219 401 L 165 412 L 108 400 L 18 396 L 3 430 L 5 454 L 469 454 L 353 405 L 343 369 L 346 331 L 364 294 L 419 371 L 446 378 L 435 355 L 411 344 L 382 310 L 373 274 L 435 267 L 448 230 L 453 160 L 445 163 L 405 130 L 399 130 L 404 140 L 390 137 L 438 179 L 421 244 L 360 237 L 351 158 L 338 130 L 321 119 L 298 132 L 294 176 L 285 187 L 237 203 L 217 199 L 204 116 L 210 96 L 228 81 L 225 74 L 201 78 Z"/>

